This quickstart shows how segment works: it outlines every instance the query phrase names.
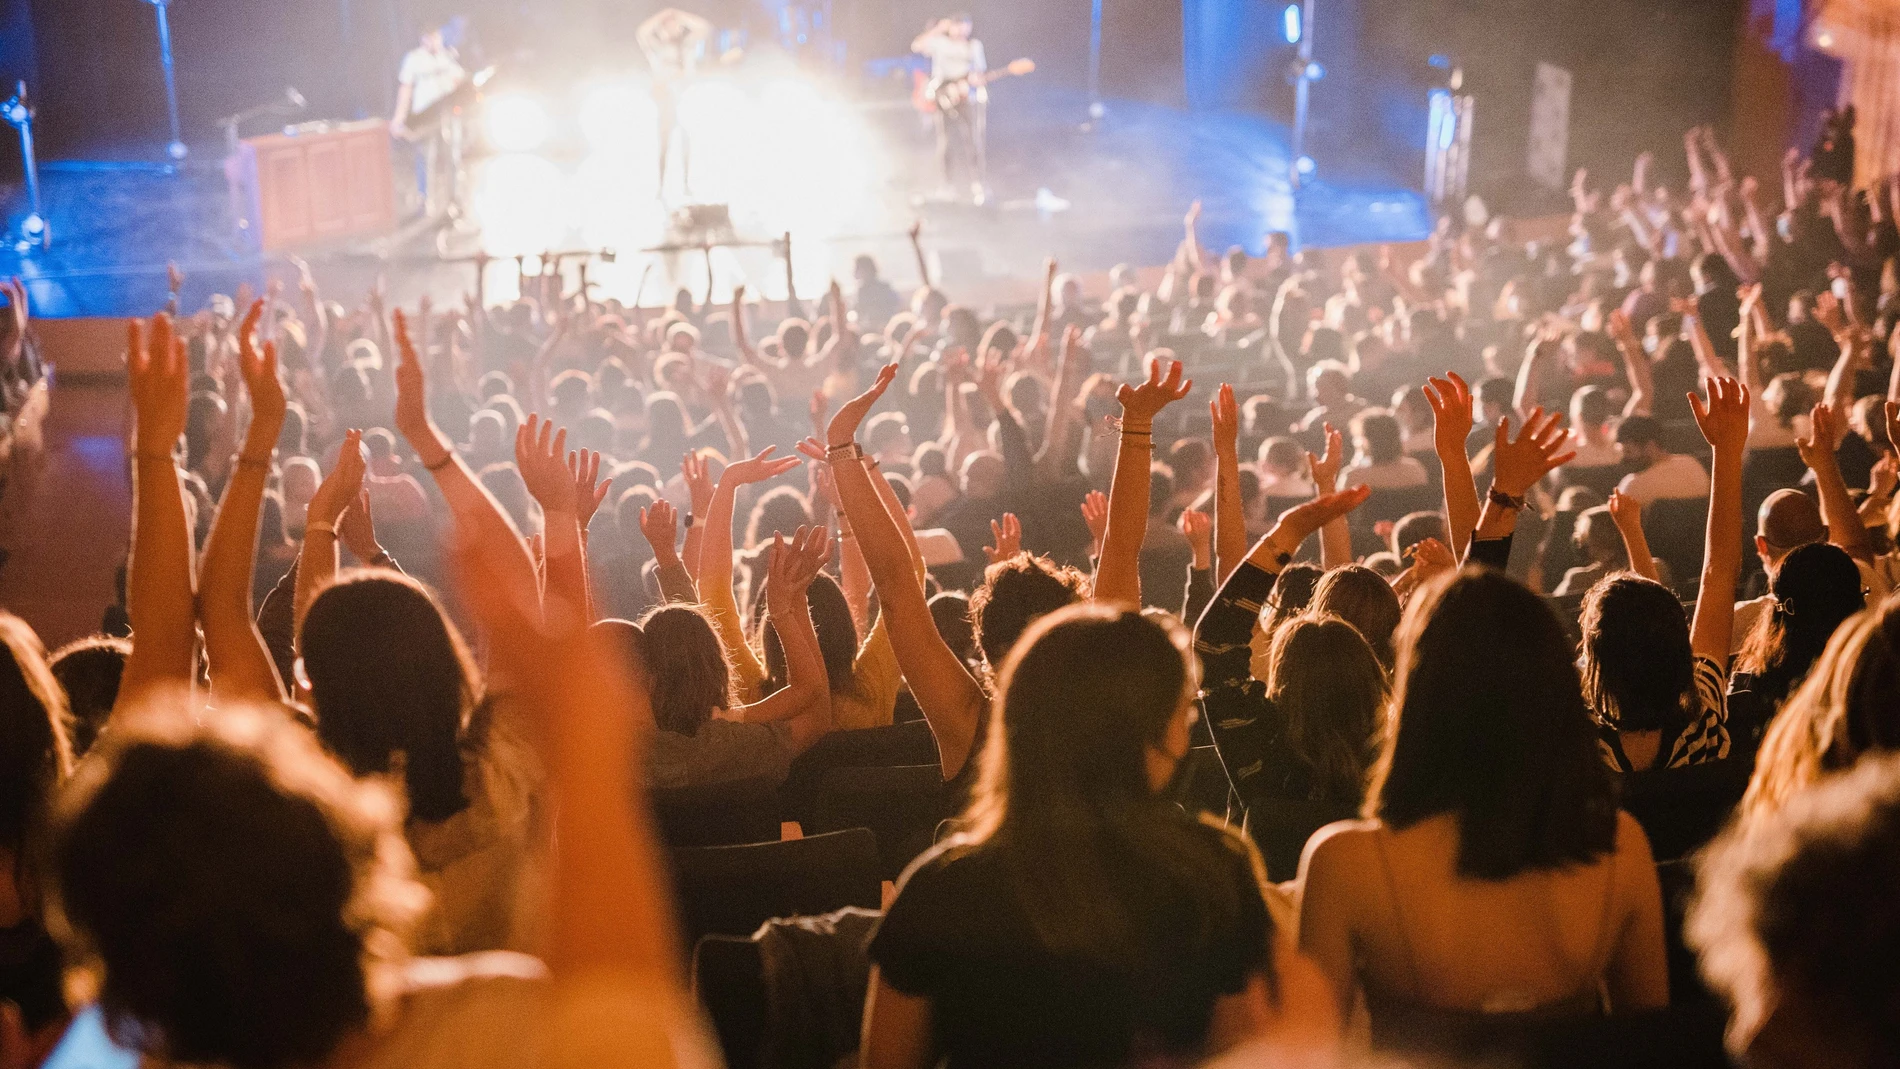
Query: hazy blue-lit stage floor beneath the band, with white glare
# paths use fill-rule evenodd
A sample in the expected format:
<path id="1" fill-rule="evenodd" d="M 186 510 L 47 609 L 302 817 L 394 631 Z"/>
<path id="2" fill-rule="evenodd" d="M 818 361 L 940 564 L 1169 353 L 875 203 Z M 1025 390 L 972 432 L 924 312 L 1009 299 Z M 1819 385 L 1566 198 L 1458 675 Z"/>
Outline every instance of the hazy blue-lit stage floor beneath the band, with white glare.
<path id="1" fill-rule="evenodd" d="M 1085 97 L 1034 80 L 994 93 L 990 203 L 982 209 L 920 205 L 918 196 L 937 184 L 929 125 L 897 101 L 840 106 L 849 108 L 855 131 L 855 141 L 840 144 L 861 144 L 874 158 L 874 165 L 853 171 L 857 184 L 842 190 L 825 184 L 828 163 L 821 144 L 800 141 L 802 127 L 783 154 L 787 167 L 808 173 L 808 184 L 798 190 L 813 190 L 809 196 L 798 192 L 794 201 L 826 199 L 826 211 L 785 203 L 785 188 L 777 197 L 750 197 L 768 205 L 758 211 L 741 213 L 737 201 L 743 197 L 730 197 L 741 239 L 768 241 L 783 228 L 792 232 L 800 296 L 815 296 L 832 275 L 849 277 L 857 253 L 876 254 L 887 277 L 901 287 L 912 285 L 916 270 L 904 232 L 914 218 L 925 222 L 925 245 L 952 298 L 960 291 L 994 289 L 984 281 L 1034 277 L 1049 254 L 1075 272 L 1102 272 L 1119 262 L 1161 264 L 1174 253 L 1182 213 L 1195 197 L 1205 203 L 1201 235 L 1210 249 L 1241 245 L 1258 253 L 1271 230 L 1294 234 L 1300 247 L 1338 247 L 1416 241 L 1431 228 L 1423 197 L 1412 188 L 1416 177 L 1330 159 L 1324 146 L 1317 146 L 1319 173 L 1296 207 L 1286 180 L 1286 127 L 1264 116 L 1108 101 L 1104 122 L 1085 129 Z M 188 275 L 182 300 L 188 309 L 201 308 L 213 292 L 232 292 L 239 281 L 258 287 L 283 258 L 247 249 L 234 226 L 222 161 L 215 154 L 217 146 L 207 144 L 179 169 L 148 161 L 46 163 L 42 190 L 53 245 L 25 256 L 0 247 L 0 273 L 27 279 L 34 313 L 46 317 L 148 313 L 165 300 L 167 260 Z M 718 163 L 714 158 L 695 167 L 711 171 Z M 486 167 L 502 165 L 490 161 Z M 536 167 L 560 175 L 560 184 L 545 190 L 545 201 L 562 211 L 530 211 L 536 224 L 515 218 L 507 235 L 500 224 L 486 234 L 464 234 L 445 243 L 448 253 L 486 249 L 511 256 L 549 245 L 616 245 L 616 262 L 589 275 L 602 294 L 629 300 L 640 291 L 648 304 L 671 296 L 673 285 L 705 294 L 707 264 L 697 253 L 673 258 L 631 253 L 656 241 L 665 228 L 669 201 L 652 196 L 650 178 L 644 196 L 621 196 L 619 177 L 608 173 L 602 180 L 597 159 L 549 152 Z M 758 167 L 756 159 L 733 169 L 756 175 L 743 180 L 775 180 L 773 169 Z M 477 175 L 477 184 L 481 180 Z M 703 184 L 718 188 L 720 180 Z M 585 190 L 593 194 L 581 196 Z M 534 199 L 534 190 L 515 199 Z M 27 211 L 19 188 L 6 190 L 0 205 L 10 228 Z M 353 300 L 378 273 L 388 275 L 397 302 L 422 292 L 437 302 L 460 300 L 473 283 L 467 264 L 443 264 L 429 241 L 312 249 L 304 256 L 329 296 L 344 300 Z M 490 296 L 505 296 L 513 287 L 513 260 L 488 270 Z M 285 277 L 281 270 L 279 277 Z M 783 266 L 773 264 L 768 249 L 714 258 L 718 298 L 739 281 L 752 292 L 781 298 L 783 277 Z"/>

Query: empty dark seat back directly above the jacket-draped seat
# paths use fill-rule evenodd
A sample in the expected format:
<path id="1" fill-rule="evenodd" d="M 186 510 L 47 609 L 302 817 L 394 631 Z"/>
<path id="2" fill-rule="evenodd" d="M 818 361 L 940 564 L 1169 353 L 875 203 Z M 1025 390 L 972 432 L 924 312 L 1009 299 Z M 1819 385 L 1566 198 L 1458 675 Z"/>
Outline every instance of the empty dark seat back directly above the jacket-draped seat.
<path id="1" fill-rule="evenodd" d="M 747 936 L 773 917 L 884 904 L 878 839 L 863 830 L 741 847 L 673 851 L 686 946 L 699 936 Z"/>

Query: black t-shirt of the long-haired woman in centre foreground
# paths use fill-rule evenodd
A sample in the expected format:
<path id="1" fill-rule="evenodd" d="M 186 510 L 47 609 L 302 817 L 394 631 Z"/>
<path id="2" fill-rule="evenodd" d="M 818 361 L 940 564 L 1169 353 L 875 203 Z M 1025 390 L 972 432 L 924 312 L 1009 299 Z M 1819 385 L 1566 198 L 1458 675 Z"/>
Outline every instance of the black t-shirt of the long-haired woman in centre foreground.
<path id="1" fill-rule="evenodd" d="M 950 841 L 918 858 L 878 925 L 870 959 L 899 991 L 931 1001 L 937 1052 L 963 1067 L 1108 1067 L 1195 1060 L 1214 1001 L 1267 970 L 1271 921 L 1239 839 L 1180 818 L 1231 858 L 1241 910 L 1208 925 L 1184 889 L 1112 866 L 1142 925 L 1127 961 L 1043 949 L 994 849 Z M 1203 930 L 1208 928 L 1208 930 Z"/>

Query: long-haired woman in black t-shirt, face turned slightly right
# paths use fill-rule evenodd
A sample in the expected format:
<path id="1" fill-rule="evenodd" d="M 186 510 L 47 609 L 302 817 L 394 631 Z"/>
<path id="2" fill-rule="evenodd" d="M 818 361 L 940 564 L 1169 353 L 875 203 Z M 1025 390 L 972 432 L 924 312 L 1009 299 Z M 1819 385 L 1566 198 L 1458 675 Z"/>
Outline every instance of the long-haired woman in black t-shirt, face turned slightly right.
<path id="1" fill-rule="evenodd" d="M 1178 625 L 1075 606 L 1030 627 L 963 832 L 870 944 L 866 1067 L 1188 1063 L 1298 1020 L 1252 851 L 1161 796 L 1193 693 Z"/>

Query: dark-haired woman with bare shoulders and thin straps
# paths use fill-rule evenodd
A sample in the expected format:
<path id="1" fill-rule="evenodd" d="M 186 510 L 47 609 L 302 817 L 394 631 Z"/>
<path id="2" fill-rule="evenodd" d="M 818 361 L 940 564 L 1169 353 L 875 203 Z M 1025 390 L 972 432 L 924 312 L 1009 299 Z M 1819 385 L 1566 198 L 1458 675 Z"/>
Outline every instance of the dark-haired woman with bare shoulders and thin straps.
<path id="1" fill-rule="evenodd" d="M 1366 818 L 1302 864 L 1300 942 L 1341 1010 L 1362 989 L 1376 1046 L 1457 1056 L 1526 1022 L 1664 1006 L 1649 843 L 1617 813 L 1550 610 L 1495 572 L 1427 587 L 1393 708 Z"/>

